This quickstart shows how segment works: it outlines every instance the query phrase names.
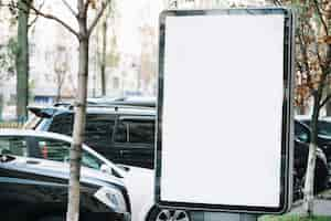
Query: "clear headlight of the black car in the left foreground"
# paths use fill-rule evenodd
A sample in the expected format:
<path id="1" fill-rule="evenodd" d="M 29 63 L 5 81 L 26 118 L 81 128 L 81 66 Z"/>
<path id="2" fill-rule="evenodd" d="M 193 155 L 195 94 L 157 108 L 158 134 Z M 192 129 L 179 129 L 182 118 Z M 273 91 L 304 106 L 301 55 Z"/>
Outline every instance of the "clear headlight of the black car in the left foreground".
<path id="1" fill-rule="evenodd" d="M 115 212 L 128 212 L 124 196 L 117 189 L 103 187 L 98 191 L 96 191 L 94 197 L 97 198 L 100 202 L 111 208 Z"/>

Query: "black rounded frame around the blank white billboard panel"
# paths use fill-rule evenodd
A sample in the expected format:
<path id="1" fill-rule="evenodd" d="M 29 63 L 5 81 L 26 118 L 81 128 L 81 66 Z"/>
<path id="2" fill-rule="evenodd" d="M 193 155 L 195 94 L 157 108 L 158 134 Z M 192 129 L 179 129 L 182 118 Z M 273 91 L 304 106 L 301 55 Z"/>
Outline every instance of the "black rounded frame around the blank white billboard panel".
<path id="1" fill-rule="evenodd" d="M 205 204 L 190 202 L 170 202 L 161 200 L 161 154 L 162 154 L 162 113 L 163 113 L 163 76 L 164 76 L 164 46 L 166 46 L 166 19 L 167 17 L 185 15 L 284 15 L 284 98 L 282 98 L 282 131 L 281 131 L 281 192 L 279 207 L 246 207 L 226 204 Z M 154 200 L 158 207 L 168 209 L 183 209 L 197 211 L 241 212 L 241 213 L 268 213 L 281 214 L 289 210 L 292 201 L 292 158 L 293 158 L 293 38 L 295 15 L 287 8 L 248 8 L 248 9 L 210 9 L 210 10 L 166 10 L 159 18 L 159 66 L 158 66 L 158 104 L 156 130 L 156 185 Z"/>

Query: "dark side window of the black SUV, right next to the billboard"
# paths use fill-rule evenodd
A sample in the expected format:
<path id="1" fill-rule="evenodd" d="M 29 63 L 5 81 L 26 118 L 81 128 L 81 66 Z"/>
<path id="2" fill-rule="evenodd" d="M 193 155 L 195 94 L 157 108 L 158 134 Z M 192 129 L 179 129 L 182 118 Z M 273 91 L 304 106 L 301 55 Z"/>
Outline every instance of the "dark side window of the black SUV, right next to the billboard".
<path id="1" fill-rule="evenodd" d="M 153 144 L 154 120 L 152 119 L 119 119 L 116 143 Z"/>

